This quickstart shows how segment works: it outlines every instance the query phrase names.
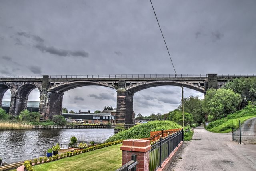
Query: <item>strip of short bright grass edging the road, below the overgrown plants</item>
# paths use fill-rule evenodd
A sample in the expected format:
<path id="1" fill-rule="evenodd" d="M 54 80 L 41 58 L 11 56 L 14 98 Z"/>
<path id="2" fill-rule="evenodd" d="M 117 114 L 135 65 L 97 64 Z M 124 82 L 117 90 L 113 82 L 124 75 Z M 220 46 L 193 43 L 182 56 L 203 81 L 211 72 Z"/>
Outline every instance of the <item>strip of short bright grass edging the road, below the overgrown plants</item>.
<path id="1" fill-rule="evenodd" d="M 218 125 L 216 127 L 207 129 L 210 132 L 214 133 L 228 133 L 232 131 L 232 128 L 238 128 L 239 127 L 239 120 L 241 121 L 241 124 L 244 123 L 247 119 L 250 119 L 252 117 L 256 117 L 256 115 L 253 116 L 245 116 L 245 117 L 239 117 L 236 119 L 229 119 L 225 123 L 222 123 L 221 125 Z"/>

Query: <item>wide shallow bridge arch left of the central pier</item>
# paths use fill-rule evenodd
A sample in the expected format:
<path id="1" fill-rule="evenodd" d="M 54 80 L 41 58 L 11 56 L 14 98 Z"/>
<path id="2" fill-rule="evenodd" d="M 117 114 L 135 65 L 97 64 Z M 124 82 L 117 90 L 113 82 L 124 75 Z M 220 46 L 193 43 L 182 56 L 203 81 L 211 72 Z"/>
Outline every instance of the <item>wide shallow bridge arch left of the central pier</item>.
<path id="1" fill-rule="evenodd" d="M 55 85 L 53 87 L 50 87 L 48 91 L 57 91 L 64 93 L 65 91 L 68 91 L 70 89 L 83 87 L 83 86 L 90 86 L 90 85 L 96 85 L 96 86 L 103 86 L 103 87 L 109 87 L 112 89 L 116 89 L 114 85 L 103 83 L 103 82 L 96 82 L 96 81 L 72 81 L 72 82 L 64 82 L 60 83 L 58 85 Z"/>

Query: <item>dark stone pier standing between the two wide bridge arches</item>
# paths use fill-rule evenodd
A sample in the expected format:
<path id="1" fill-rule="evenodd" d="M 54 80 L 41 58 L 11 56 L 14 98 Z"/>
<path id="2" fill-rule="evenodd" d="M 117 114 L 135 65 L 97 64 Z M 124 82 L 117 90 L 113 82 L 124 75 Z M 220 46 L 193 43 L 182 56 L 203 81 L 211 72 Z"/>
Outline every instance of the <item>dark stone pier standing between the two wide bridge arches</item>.
<path id="1" fill-rule="evenodd" d="M 125 127 L 134 126 L 133 120 L 133 96 L 134 93 L 118 89 L 116 103 L 116 123 Z"/>

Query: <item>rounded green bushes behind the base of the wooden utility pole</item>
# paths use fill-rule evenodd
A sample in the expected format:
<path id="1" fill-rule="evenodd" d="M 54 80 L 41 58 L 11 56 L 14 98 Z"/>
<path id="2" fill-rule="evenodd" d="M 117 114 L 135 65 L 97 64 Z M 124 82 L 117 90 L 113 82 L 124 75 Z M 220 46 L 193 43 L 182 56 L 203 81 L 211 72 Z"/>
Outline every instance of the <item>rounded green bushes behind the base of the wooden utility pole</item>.
<path id="1" fill-rule="evenodd" d="M 179 109 L 170 111 L 168 113 L 167 119 L 182 125 L 183 124 L 182 111 L 180 111 Z M 184 112 L 184 124 L 187 125 L 187 124 L 191 124 L 191 123 L 193 123 L 192 115 L 190 113 Z"/>

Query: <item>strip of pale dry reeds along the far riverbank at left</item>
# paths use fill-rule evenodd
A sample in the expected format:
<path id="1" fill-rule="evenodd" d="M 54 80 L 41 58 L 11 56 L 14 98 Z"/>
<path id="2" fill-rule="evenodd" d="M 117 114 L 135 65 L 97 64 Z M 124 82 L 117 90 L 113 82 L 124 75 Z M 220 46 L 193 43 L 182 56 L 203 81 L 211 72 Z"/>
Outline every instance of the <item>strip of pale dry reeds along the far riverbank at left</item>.
<path id="1" fill-rule="evenodd" d="M 0 122 L 0 130 L 32 129 L 33 125 L 23 122 Z"/>

